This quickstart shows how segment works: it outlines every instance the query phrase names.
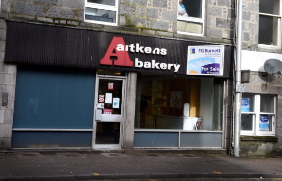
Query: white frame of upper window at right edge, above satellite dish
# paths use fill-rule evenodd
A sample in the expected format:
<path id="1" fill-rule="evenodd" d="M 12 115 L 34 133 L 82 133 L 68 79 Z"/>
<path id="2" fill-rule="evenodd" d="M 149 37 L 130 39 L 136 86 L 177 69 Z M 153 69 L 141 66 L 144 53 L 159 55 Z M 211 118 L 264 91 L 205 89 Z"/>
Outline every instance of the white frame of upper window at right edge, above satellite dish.
<path id="1" fill-rule="evenodd" d="M 273 14 L 267 14 L 267 13 L 261 13 L 259 12 L 259 17 L 260 16 L 268 16 L 268 17 L 277 17 L 278 18 L 278 24 L 277 24 L 277 45 L 265 45 L 265 44 L 259 44 L 259 47 L 261 48 L 268 48 L 268 49 L 281 49 L 281 18 L 282 18 L 282 0 L 279 0 L 279 15 L 273 15 Z M 260 31 L 260 30 L 259 30 Z"/>

